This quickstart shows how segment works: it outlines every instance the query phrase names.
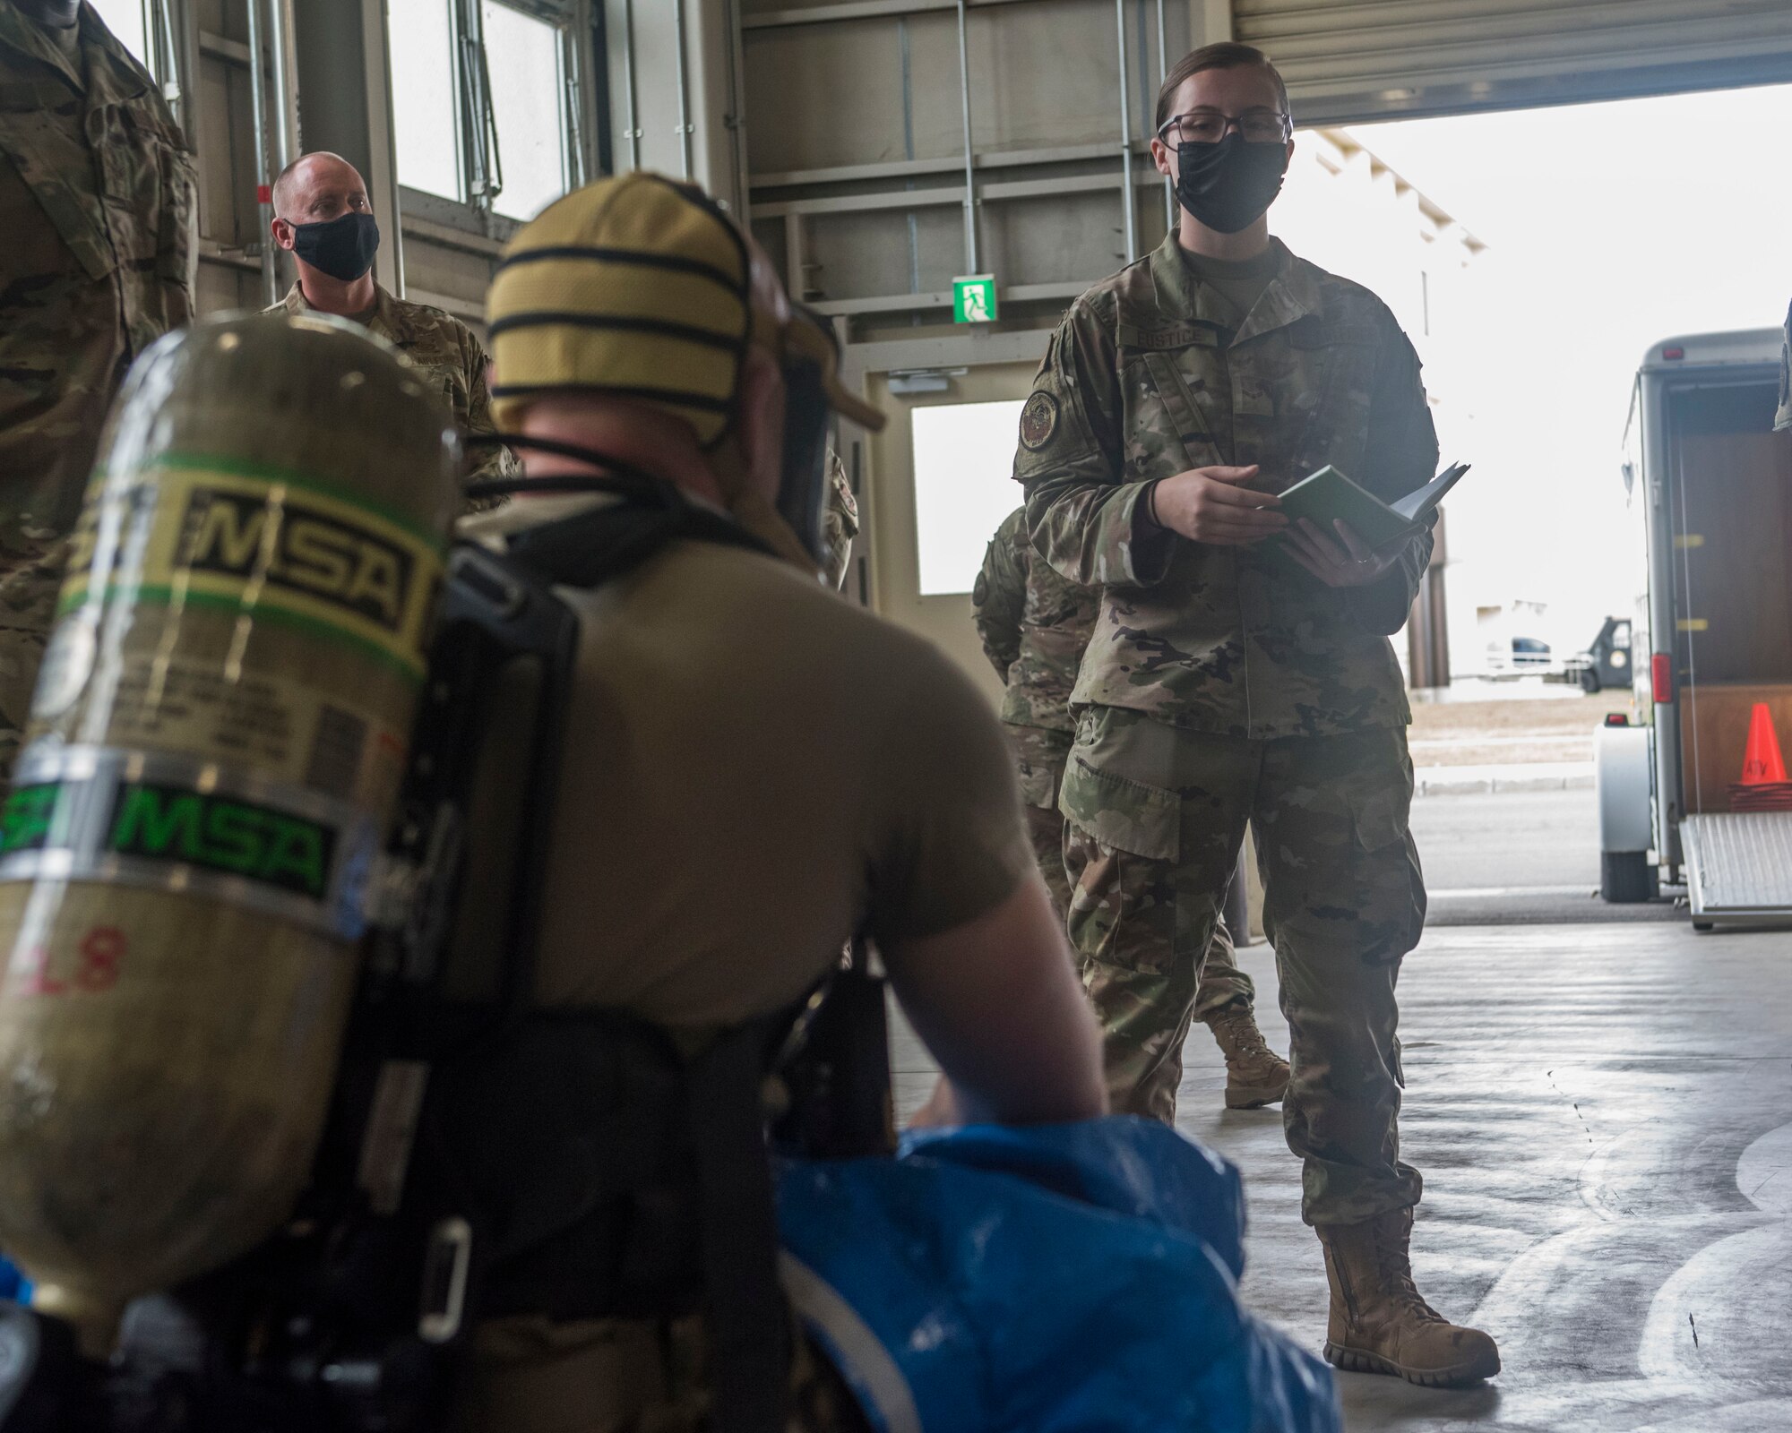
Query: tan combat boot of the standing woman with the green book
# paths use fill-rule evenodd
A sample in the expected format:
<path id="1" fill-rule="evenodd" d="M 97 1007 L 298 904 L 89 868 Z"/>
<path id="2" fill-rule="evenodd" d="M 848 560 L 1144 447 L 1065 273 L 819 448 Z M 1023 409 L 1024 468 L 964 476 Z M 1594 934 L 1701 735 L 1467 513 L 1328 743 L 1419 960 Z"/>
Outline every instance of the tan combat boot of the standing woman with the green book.
<path id="1" fill-rule="evenodd" d="M 1412 1284 L 1412 1211 L 1364 1223 L 1321 1223 L 1331 1284 L 1326 1361 L 1353 1374 L 1457 1388 L 1500 1372 L 1500 1347 L 1480 1329 L 1450 1324 Z"/>

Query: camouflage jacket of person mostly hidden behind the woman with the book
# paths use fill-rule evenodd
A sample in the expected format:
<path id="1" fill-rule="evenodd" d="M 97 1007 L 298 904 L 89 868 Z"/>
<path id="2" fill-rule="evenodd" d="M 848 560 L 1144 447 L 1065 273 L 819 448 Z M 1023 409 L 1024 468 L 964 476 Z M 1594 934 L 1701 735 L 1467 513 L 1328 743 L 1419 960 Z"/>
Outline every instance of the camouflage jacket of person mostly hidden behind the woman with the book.
<path id="1" fill-rule="evenodd" d="M 1027 512 L 1002 519 L 971 589 L 977 636 L 1007 682 L 1002 720 L 1018 727 L 1075 731 L 1070 693 L 1095 631 L 1100 591 L 1066 582 L 1027 541 Z"/>

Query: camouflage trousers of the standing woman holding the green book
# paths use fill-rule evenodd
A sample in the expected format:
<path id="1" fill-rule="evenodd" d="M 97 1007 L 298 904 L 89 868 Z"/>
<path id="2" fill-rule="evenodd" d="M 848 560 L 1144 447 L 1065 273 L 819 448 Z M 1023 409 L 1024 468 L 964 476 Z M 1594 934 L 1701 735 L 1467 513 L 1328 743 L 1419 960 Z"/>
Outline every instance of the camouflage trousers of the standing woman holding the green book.
<path id="1" fill-rule="evenodd" d="M 1170 1121 L 1202 957 L 1245 822 L 1263 876 L 1308 1223 L 1417 1204 L 1400 1161 L 1400 960 L 1425 924 L 1403 729 L 1249 742 L 1082 713 L 1063 786 L 1068 930 L 1115 1111 Z"/>

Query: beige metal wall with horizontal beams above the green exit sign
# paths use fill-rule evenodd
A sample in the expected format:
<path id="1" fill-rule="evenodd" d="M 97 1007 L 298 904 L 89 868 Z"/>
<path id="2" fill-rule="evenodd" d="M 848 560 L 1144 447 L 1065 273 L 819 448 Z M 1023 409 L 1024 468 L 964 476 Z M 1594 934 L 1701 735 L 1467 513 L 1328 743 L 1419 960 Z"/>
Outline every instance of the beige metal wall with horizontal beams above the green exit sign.
<path id="1" fill-rule="evenodd" d="M 950 326 L 968 272 L 1050 321 L 1163 236 L 1147 142 L 1186 4 L 747 0 L 742 27 L 754 231 L 858 339 Z"/>

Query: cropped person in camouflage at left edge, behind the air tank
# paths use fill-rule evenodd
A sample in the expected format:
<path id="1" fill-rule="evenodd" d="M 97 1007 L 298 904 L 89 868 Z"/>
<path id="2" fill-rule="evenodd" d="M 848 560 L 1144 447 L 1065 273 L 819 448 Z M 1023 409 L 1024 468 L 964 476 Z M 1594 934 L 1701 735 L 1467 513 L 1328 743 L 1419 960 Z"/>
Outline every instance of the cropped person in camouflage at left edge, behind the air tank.
<path id="1" fill-rule="evenodd" d="M 0 4 L 0 783 L 131 362 L 194 310 L 194 158 L 73 0 Z"/>

